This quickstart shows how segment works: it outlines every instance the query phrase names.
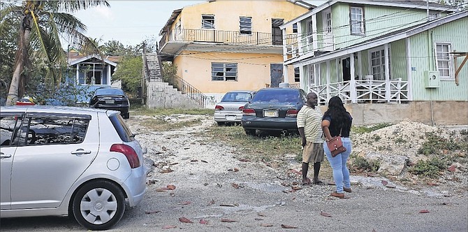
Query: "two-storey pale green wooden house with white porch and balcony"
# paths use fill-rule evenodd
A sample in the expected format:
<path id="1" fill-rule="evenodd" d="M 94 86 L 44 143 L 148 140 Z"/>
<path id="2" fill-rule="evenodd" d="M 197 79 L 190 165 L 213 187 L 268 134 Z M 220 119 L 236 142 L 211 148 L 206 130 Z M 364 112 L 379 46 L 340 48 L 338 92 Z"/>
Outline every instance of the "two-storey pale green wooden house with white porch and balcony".
<path id="1" fill-rule="evenodd" d="M 468 10 L 427 1 L 328 1 L 281 25 L 284 69 L 321 103 L 468 101 Z"/>

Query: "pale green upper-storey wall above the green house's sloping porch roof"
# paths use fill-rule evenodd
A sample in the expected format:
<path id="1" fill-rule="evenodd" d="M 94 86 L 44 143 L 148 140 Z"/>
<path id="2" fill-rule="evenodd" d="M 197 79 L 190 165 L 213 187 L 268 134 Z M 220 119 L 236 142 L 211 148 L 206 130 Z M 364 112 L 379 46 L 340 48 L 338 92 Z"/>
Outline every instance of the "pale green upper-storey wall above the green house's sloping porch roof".
<path id="1" fill-rule="evenodd" d="M 351 35 L 349 26 L 349 3 L 332 5 L 332 33 L 335 49 L 370 40 L 413 24 L 425 22 L 426 10 L 356 4 L 364 9 L 365 36 Z M 383 17 L 384 15 L 388 15 Z M 317 20 L 317 24 L 321 24 Z"/>

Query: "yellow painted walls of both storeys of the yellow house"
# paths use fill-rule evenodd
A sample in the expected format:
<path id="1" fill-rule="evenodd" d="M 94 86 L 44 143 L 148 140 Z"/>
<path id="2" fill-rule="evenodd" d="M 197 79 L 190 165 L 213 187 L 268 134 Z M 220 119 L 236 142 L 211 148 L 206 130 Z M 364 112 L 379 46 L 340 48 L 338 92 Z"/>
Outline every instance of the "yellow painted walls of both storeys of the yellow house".
<path id="1" fill-rule="evenodd" d="M 272 33 L 271 20 L 284 22 L 308 10 L 288 1 L 213 1 L 185 7 L 171 28 L 181 20 L 182 29 L 201 29 L 201 15 L 214 15 L 214 30 L 239 31 L 239 17 L 252 17 L 252 31 Z M 210 30 L 210 29 L 207 29 Z M 292 34 L 292 27 L 286 34 Z M 212 46 L 207 44 L 207 46 Z M 203 93 L 225 93 L 235 89 L 258 90 L 270 84 L 270 64 L 283 64 L 281 54 L 184 51 L 174 59 L 177 75 Z M 213 81 L 211 62 L 237 63 L 237 81 Z M 286 70 L 283 71 L 285 73 Z M 288 67 L 288 82 L 294 82 L 293 66 Z"/>

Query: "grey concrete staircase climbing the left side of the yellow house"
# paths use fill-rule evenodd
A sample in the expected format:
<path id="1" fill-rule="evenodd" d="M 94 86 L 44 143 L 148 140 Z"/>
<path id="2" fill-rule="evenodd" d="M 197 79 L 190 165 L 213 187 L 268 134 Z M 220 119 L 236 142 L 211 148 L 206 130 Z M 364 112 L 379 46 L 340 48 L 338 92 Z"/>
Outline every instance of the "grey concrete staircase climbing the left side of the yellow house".
<path id="1" fill-rule="evenodd" d="M 148 108 L 205 108 L 205 101 L 199 101 L 201 93 L 193 97 L 193 93 L 184 93 L 184 88 L 176 89 L 168 82 L 163 82 L 160 59 L 156 53 L 143 55 L 145 65 L 145 95 Z M 188 85 L 187 83 L 184 83 Z M 191 87 L 191 89 L 195 89 Z M 203 94 L 201 94 L 203 95 Z"/>

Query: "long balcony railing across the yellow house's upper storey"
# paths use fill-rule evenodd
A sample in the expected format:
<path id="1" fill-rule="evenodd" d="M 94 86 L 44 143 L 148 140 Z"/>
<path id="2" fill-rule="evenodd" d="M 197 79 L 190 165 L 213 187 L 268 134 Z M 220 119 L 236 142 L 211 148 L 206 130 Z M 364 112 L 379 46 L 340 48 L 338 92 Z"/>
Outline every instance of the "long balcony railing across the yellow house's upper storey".
<path id="1" fill-rule="evenodd" d="M 286 36 L 286 44 L 292 43 L 295 37 Z M 180 42 L 206 42 L 206 43 L 233 43 L 249 45 L 283 45 L 283 38 L 271 33 L 252 31 L 251 34 L 242 34 L 240 31 L 219 31 L 212 29 L 173 29 L 161 38 L 159 48 L 170 41 Z"/>

